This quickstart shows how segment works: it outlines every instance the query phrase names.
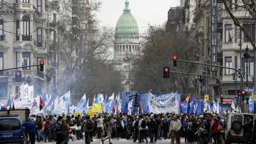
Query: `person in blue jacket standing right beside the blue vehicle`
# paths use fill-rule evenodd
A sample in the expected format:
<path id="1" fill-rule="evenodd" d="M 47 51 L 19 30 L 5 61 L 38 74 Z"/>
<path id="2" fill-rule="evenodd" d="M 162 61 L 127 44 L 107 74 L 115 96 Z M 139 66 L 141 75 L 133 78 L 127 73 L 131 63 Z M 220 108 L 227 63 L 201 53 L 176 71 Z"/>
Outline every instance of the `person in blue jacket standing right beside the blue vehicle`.
<path id="1" fill-rule="evenodd" d="M 31 117 L 28 117 L 28 122 L 24 122 L 22 124 L 22 126 L 24 126 L 26 128 L 26 130 L 28 131 L 28 136 L 31 141 L 30 143 L 35 144 L 35 141 L 36 141 L 36 124 L 35 124 L 35 122 L 32 121 Z"/>

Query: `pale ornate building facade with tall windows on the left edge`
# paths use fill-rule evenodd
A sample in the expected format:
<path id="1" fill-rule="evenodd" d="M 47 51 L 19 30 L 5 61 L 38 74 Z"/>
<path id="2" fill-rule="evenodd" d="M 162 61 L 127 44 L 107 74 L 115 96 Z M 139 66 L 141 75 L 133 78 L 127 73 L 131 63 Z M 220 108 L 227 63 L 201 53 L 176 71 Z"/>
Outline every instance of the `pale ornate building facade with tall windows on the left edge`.
<path id="1" fill-rule="evenodd" d="M 56 56 L 49 55 L 49 42 L 56 34 L 58 1 L 3 1 L 0 14 L 0 70 L 38 65 L 44 60 L 44 71 L 37 66 L 20 68 L 22 82 L 15 82 L 15 70 L 0 71 L 0 100 L 18 92 L 22 83 L 34 85 L 34 94 L 49 92 L 56 77 Z M 56 81 L 56 78 L 55 78 Z"/>

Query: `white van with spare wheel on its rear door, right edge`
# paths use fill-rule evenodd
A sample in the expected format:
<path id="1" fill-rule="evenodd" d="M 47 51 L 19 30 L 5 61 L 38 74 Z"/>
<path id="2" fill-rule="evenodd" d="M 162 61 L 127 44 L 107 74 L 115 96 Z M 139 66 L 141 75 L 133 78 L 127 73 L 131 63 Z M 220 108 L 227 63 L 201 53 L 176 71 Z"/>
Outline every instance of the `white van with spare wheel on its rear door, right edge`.
<path id="1" fill-rule="evenodd" d="M 242 125 L 246 122 L 246 120 L 252 120 L 252 123 L 254 125 L 256 115 L 248 113 L 230 113 L 228 115 L 225 128 L 226 144 L 245 144 L 244 130 Z"/>

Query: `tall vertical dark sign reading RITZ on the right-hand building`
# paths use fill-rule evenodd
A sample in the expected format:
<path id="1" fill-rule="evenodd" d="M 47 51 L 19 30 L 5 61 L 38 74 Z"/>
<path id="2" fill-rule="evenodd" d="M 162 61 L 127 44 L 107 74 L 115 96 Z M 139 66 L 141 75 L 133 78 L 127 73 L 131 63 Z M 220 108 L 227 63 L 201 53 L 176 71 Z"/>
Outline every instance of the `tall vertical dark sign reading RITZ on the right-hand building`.
<path id="1" fill-rule="evenodd" d="M 211 0 L 211 64 L 217 65 L 217 54 L 218 54 L 218 33 L 217 33 L 217 22 L 218 22 L 218 15 L 217 15 L 217 0 Z M 212 66 L 212 72 L 217 72 L 218 69 L 216 66 Z"/>

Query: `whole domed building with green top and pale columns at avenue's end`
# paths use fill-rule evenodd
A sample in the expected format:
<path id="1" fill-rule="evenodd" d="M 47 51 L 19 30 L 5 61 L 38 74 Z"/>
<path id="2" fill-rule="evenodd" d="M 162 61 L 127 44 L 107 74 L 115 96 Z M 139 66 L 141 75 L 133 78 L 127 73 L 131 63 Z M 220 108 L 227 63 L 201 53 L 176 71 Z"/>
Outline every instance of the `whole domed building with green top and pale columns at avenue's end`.
<path id="1" fill-rule="evenodd" d="M 138 24 L 131 14 L 129 2 L 126 0 L 124 12 L 116 23 L 113 58 L 113 64 L 122 73 L 126 91 L 132 89 L 130 70 L 132 69 L 133 55 L 139 49 L 139 46 Z"/>

